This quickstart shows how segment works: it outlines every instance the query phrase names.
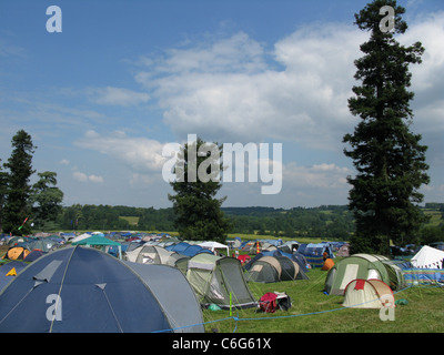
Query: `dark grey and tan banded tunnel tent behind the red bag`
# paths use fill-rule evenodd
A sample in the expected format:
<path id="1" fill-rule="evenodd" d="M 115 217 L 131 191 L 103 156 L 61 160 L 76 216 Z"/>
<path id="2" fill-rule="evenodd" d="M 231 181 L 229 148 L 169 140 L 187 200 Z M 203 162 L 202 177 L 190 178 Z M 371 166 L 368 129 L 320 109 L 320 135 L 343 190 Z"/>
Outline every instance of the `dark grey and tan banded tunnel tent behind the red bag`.
<path id="1" fill-rule="evenodd" d="M 299 264 L 286 256 L 259 254 L 244 268 L 249 282 L 272 283 L 309 277 Z"/>

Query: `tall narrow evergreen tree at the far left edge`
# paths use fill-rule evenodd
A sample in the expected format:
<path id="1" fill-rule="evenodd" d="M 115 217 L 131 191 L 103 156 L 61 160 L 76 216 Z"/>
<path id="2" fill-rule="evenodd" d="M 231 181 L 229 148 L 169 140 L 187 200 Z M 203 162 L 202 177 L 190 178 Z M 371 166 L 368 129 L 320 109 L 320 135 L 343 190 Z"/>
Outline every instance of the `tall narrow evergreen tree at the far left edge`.
<path id="1" fill-rule="evenodd" d="M 31 135 L 20 130 L 12 138 L 12 148 L 11 156 L 4 164 L 9 174 L 8 196 L 3 207 L 3 232 L 21 235 L 30 232 L 29 224 L 22 224 L 31 213 L 29 180 L 34 173 L 32 154 L 37 146 L 32 144 Z"/>

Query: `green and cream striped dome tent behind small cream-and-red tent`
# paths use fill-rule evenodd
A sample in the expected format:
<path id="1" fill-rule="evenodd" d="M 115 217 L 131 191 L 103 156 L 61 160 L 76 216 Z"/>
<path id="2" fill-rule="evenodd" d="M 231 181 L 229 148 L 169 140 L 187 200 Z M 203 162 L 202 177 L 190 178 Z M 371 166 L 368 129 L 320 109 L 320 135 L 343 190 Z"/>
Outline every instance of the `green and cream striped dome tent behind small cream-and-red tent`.
<path id="1" fill-rule="evenodd" d="M 325 291 L 333 295 L 343 295 L 346 285 L 356 278 L 379 278 L 393 290 L 405 286 L 403 273 L 387 257 L 373 254 L 354 254 L 336 262 L 325 278 Z"/>

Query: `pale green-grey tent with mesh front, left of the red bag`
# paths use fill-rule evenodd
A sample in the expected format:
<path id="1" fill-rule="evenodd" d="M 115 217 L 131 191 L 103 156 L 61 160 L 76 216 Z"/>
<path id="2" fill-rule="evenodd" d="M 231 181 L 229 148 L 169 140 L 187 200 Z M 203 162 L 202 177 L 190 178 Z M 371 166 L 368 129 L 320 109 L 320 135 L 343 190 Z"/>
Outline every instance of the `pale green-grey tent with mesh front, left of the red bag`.
<path id="1" fill-rule="evenodd" d="M 241 262 L 201 253 L 188 261 L 186 280 L 203 306 L 245 308 L 256 305 L 243 275 Z M 231 295 L 231 296 L 230 296 Z"/>

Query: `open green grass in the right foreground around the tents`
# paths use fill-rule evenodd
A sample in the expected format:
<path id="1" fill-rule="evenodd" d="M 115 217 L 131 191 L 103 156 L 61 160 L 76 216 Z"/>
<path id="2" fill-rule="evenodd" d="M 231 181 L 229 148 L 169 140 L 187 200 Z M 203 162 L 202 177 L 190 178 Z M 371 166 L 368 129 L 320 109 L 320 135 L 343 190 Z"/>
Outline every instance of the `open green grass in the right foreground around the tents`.
<path id="1" fill-rule="evenodd" d="M 289 311 L 274 314 L 255 308 L 230 311 L 204 310 L 206 332 L 220 333 L 441 333 L 444 332 L 444 288 L 415 286 L 395 293 L 394 321 L 381 321 L 380 310 L 345 308 L 343 296 L 323 293 L 326 272 L 307 273 L 310 280 L 272 284 L 249 283 L 259 300 L 266 292 L 285 292 L 292 300 Z M 236 317 L 238 320 L 235 320 Z M 223 320 L 223 321 L 220 321 Z"/>

